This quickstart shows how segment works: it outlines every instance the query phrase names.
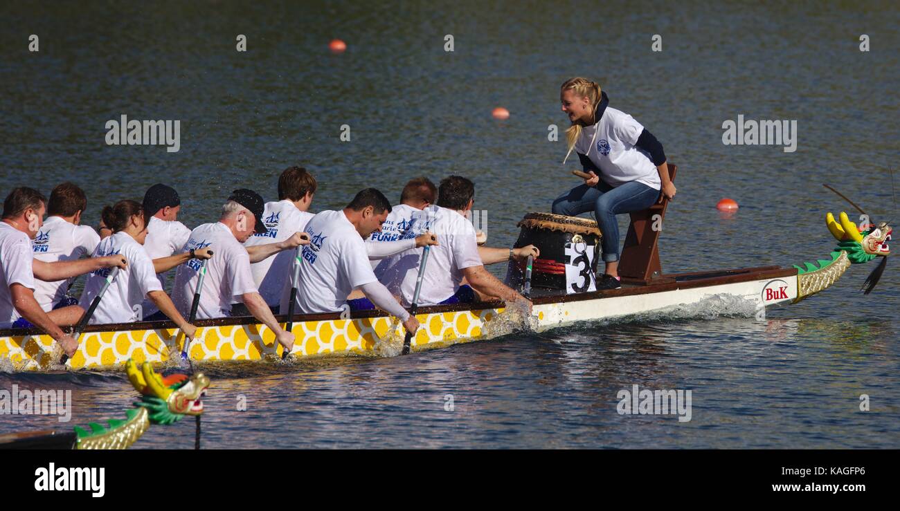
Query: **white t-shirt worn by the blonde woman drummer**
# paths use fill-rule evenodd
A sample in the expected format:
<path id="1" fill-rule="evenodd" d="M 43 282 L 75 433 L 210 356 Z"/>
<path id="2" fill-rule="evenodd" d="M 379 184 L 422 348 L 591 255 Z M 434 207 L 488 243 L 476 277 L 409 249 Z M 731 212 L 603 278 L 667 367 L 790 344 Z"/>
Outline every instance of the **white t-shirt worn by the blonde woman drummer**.
<path id="1" fill-rule="evenodd" d="M 581 129 L 575 151 L 589 157 L 600 169 L 600 180 L 612 187 L 637 181 L 660 190 L 659 171 L 650 156 L 635 147 L 642 131 L 644 126 L 634 117 L 607 107 L 597 124 Z"/>

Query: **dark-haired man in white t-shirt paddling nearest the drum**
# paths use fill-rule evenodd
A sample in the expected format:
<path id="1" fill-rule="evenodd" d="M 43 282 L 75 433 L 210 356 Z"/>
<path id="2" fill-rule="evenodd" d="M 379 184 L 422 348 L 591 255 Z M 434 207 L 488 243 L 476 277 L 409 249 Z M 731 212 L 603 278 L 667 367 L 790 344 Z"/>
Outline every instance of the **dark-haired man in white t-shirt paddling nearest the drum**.
<path id="1" fill-rule="evenodd" d="M 430 248 L 419 305 L 474 301 L 474 290 L 483 298 L 522 303 L 530 310 L 531 301 L 504 285 L 484 268 L 475 228 L 467 218 L 467 211 L 472 211 L 474 196 L 472 181 L 451 175 L 441 181 L 437 206 L 422 211 L 428 216 L 428 224 L 437 235 L 438 245 Z M 526 250 L 517 252 L 516 249 L 485 248 L 484 252 L 491 262 L 516 255 L 537 255 L 535 247 L 522 248 Z M 381 274 L 381 281 L 392 292 L 400 293 L 404 303 L 412 303 L 422 251 L 422 248 L 414 248 L 394 255 Z M 468 286 L 462 285 L 463 279 Z M 472 289 L 467 289 L 469 286 Z"/>

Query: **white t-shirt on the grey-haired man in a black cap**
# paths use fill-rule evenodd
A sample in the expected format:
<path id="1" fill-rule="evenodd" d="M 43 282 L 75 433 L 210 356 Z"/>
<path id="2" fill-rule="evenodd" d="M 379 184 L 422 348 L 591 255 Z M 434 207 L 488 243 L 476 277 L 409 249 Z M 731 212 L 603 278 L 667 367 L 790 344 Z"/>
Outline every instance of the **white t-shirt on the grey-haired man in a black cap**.
<path id="1" fill-rule="evenodd" d="M 206 276 L 200 291 L 198 319 L 224 318 L 231 315 L 231 304 L 244 301 L 242 295 L 257 292 L 257 284 L 250 273 L 250 255 L 247 248 L 231 234 L 227 225 L 216 222 L 203 224 L 191 231 L 191 237 L 181 252 L 209 247 L 212 257 L 206 260 Z M 191 314 L 193 291 L 200 278 L 201 262 L 191 259 L 178 264 L 172 301 L 184 319 Z"/>

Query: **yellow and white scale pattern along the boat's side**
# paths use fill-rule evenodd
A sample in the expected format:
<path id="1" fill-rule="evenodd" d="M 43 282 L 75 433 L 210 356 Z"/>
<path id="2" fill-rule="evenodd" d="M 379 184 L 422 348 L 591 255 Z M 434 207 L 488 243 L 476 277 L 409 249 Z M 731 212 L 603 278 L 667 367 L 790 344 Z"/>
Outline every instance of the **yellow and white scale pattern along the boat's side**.
<path id="1" fill-rule="evenodd" d="M 461 310 L 419 314 L 419 328 L 412 345 L 437 347 L 482 336 L 484 325 L 503 309 Z M 402 343 L 403 330 L 394 318 L 329 319 L 294 323 L 296 356 L 329 354 L 374 355 L 375 343 L 392 339 Z M 67 362 L 71 369 L 115 369 L 133 358 L 136 363 L 165 363 L 170 354 L 180 356 L 175 346 L 176 329 L 122 330 L 82 334 L 78 351 Z M 8 360 L 15 371 L 48 371 L 55 349 L 46 335 L 0 337 L 0 360 Z M 58 352 L 57 352 L 58 353 Z M 192 360 L 261 360 L 280 355 L 282 348 L 268 327 L 258 324 L 199 327 L 190 345 Z"/>

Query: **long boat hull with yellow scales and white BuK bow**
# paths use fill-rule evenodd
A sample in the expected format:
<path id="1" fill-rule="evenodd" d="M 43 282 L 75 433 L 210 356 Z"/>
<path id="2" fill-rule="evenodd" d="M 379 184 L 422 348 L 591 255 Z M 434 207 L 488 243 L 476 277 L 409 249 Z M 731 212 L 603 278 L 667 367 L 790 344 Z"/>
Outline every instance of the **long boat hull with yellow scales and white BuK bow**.
<path id="1" fill-rule="evenodd" d="M 627 318 L 657 310 L 731 296 L 757 308 L 805 298 L 798 285 L 797 268 L 776 266 L 706 273 L 662 275 L 648 285 L 626 285 L 619 290 L 561 294 L 545 291 L 534 297 L 531 326 L 543 331 L 582 321 Z M 814 291 L 815 292 L 815 291 Z M 419 310 L 422 327 L 412 349 L 423 350 L 471 342 L 509 333 L 522 315 L 505 309 L 500 301 L 435 306 Z M 284 318 L 279 318 L 284 321 Z M 196 340 L 190 345 L 193 361 L 259 361 L 282 353 L 275 336 L 254 318 L 221 318 L 197 322 Z M 296 357 L 379 356 L 394 354 L 403 333 L 395 319 L 380 311 L 365 311 L 340 318 L 338 314 L 295 318 Z M 71 370 L 120 369 L 129 359 L 164 364 L 177 358 L 177 330 L 168 321 L 88 327 L 76 354 L 65 368 Z M 394 350 L 397 351 L 397 350 Z M 60 353 L 53 340 L 36 330 L 0 331 L 0 369 L 52 371 Z"/>

